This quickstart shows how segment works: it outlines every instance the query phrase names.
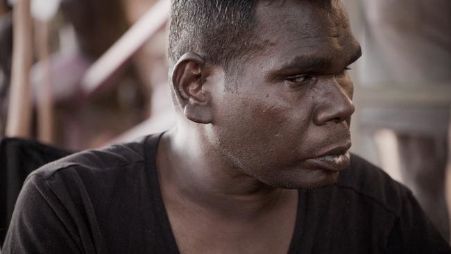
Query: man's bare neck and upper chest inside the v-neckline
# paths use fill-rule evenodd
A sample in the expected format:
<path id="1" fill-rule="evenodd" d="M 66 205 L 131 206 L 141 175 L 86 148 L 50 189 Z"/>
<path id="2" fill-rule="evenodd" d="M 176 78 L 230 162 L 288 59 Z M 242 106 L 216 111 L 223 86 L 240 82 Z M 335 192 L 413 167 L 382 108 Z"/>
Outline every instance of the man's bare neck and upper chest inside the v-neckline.
<path id="1" fill-rule="evenodd" d="M 166 133 L 157 154 L 160 189 L 180 253 L 287 253 L 298 192 L 264 185 L 201 147 L 202 137 L 184 137 Z"/>

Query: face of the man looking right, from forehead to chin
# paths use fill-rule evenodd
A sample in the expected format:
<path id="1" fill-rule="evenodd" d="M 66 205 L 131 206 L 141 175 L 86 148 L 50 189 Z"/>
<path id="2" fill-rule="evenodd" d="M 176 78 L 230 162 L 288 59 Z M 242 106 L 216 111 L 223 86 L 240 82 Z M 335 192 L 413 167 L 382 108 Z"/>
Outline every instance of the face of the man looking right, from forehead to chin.
<path id="1" fill-rule="evenodd" d="M 273 187 L 316 188 L 349 164 L 352 82 L 360 56 L 339 1 L 257 6 L 262 50 L 237 61 L 212 91 L 216 149 L 249 176 Z"/>

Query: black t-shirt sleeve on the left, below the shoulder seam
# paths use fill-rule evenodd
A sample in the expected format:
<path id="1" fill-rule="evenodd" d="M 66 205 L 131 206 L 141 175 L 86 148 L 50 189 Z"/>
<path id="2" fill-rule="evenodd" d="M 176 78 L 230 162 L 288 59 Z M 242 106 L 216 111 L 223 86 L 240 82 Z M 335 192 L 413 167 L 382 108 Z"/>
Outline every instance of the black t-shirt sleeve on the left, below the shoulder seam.
<path id="1" fill-rule="evenodd" d="M 17 198 L 3 244 L 9 253 L 82 253 L 62 203 L 40 176 L 30 176 Z"/>

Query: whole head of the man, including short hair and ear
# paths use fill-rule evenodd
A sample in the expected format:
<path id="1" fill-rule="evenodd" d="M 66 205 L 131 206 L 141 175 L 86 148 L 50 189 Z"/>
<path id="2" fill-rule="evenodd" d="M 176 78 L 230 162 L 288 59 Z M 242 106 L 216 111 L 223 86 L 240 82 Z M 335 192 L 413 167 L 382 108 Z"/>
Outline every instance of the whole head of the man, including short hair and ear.
<path id="1" fill-rule="evenodd" d="M 341 2 L 172 6 L 173 94 L 203 147 L 274 187 L 334 183 L 349 163 L 346 67 L 360 56 Z"/>

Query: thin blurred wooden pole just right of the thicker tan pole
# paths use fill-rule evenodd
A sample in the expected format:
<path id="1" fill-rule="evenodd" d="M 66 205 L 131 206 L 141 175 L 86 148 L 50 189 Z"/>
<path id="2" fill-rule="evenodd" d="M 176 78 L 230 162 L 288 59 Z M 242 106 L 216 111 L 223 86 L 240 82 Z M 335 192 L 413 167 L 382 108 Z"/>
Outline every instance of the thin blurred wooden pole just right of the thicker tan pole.
<path id="1" fill-rule="evenodd" d="M 49 50 L 49 22 L 35 20 L 37 56 L 42 80 L 37 90 L 37 137 L 41 142 L 53 143 L 53 96 L 51 95 L 51 65 Z"/>

